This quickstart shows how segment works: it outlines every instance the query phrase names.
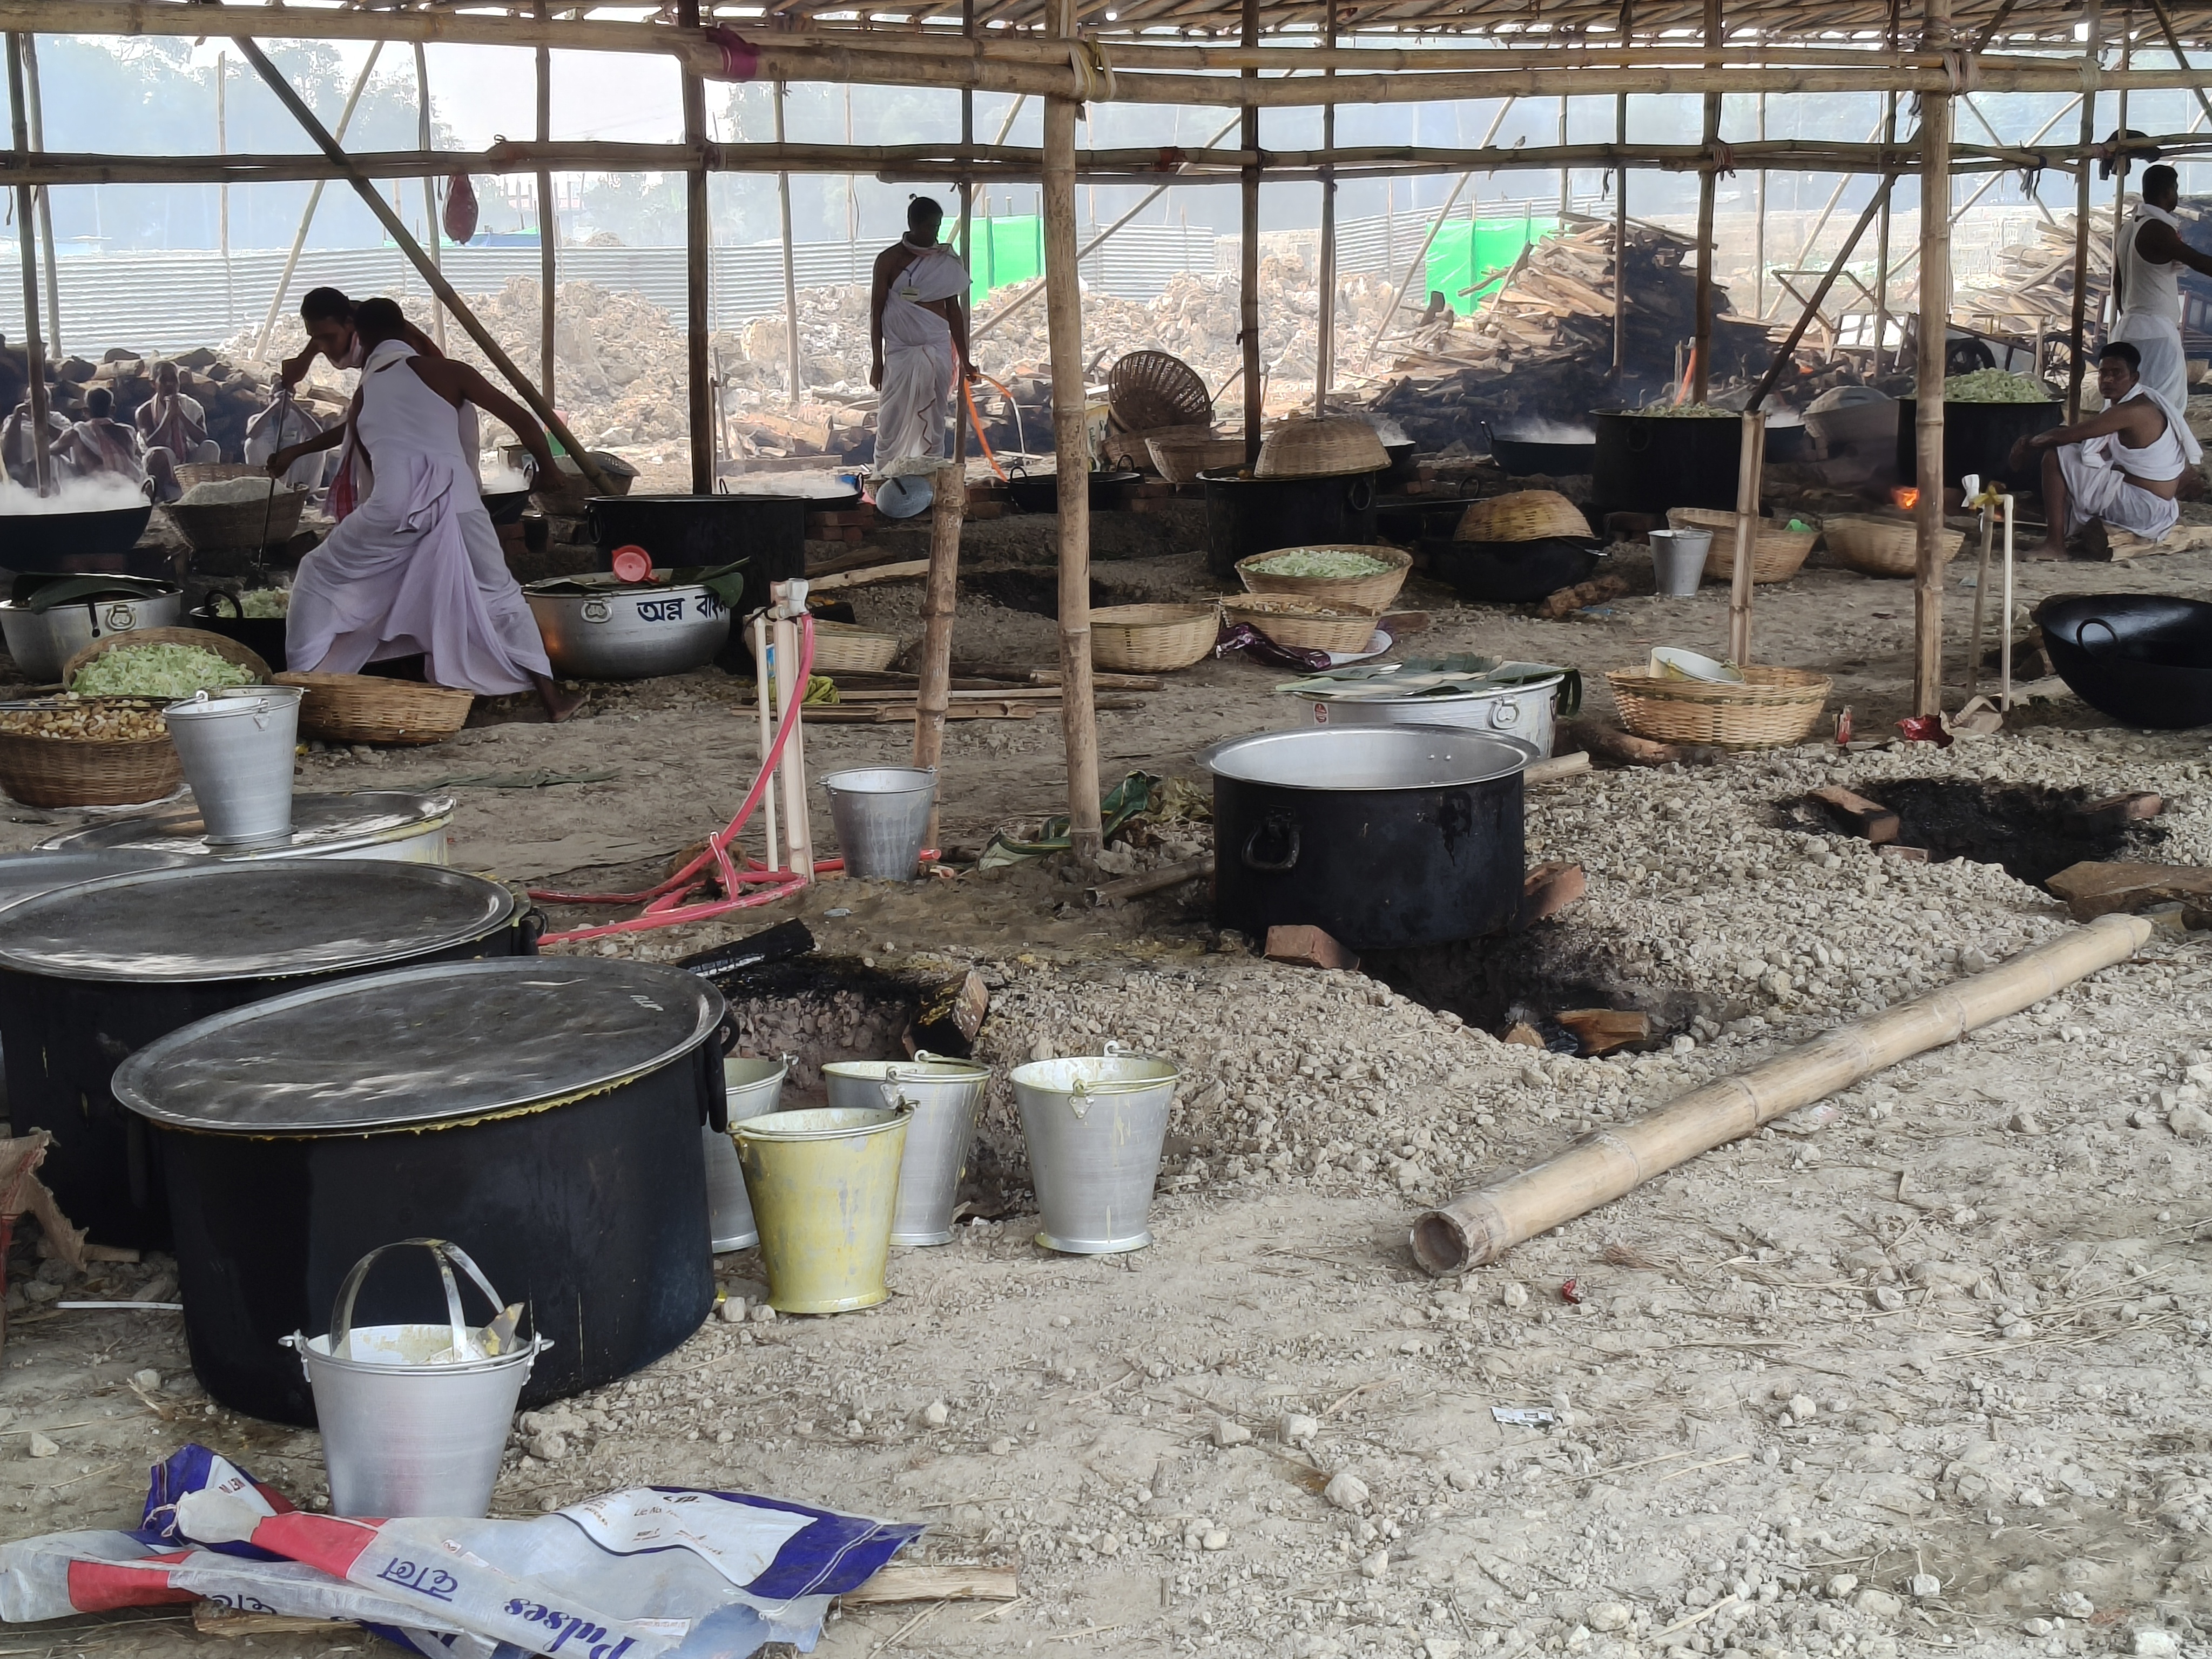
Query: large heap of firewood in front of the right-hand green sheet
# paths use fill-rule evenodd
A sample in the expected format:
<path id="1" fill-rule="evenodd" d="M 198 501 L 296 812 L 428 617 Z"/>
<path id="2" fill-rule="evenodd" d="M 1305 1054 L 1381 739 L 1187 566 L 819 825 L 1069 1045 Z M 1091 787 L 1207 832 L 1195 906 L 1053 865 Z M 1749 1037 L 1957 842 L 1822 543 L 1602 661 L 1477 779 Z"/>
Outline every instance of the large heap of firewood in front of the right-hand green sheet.
<path id="1" fill-rule="evenodd" d="M 1486 449 L 1484 420 L 1582 422 L 1590 409 L 1663 394 L 1681 372 L 1677 347 L 1694 332 L 1697 274 L 1683 268 L 1692 248 L 1657 226 L 1628 228 L 1621 385 L 1613 383 L 1613 226 L 1586 223 L 1528 243 L 1473 316 L 1416 327 L 1369 407 L 1422 449 Z M 1728 290 L 1714 285 L 1714 383 L 1756 376 L 1772 352 L 1765 325 L 1728 310 Z"/>

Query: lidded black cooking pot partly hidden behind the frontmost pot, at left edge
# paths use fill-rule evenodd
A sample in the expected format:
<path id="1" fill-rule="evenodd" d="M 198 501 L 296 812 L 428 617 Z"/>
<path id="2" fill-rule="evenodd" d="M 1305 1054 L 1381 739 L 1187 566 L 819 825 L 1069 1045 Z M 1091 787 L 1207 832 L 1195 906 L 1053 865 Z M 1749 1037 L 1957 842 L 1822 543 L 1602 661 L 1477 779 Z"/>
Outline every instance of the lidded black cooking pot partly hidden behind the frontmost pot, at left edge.
<path id="1" fill-rule="evenodd" d="M 40 1179 L 97 1243 L 168 1248 L 146 1126 L 111 1088 L 122 1060 L 303 984 L 520 956 L 535 940 L 535 911 L 495 880 L 367 858 L 192 863 L 24 898 L 0 909 L 0 1055 L 15 1133 L 53 1135 Z"/>

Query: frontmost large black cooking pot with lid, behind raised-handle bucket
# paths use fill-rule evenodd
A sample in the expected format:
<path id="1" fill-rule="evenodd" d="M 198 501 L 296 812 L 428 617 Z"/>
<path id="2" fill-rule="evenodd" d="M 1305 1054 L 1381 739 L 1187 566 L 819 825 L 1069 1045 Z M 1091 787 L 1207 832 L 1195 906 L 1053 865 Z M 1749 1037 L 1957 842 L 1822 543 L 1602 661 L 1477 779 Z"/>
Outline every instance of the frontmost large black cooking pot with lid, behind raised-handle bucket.
<path id="1" fill-rule="evenodd" d="M 115 1073 L 177 1219 L 192 1371 L 314 1422 L 299 1358 L 345 1272 L 451 1239 L 553 1338 L 524 1405 L 668 1354 L 714 1305 L 701 1126 L 723 1126 L 721 993 L 602 958 L 440 962 L 186 1026 Z M 414 1312 L 409 1312 L 414 1310 Z M 420 1318 L 378 1274 L 356 1323 Z"/>

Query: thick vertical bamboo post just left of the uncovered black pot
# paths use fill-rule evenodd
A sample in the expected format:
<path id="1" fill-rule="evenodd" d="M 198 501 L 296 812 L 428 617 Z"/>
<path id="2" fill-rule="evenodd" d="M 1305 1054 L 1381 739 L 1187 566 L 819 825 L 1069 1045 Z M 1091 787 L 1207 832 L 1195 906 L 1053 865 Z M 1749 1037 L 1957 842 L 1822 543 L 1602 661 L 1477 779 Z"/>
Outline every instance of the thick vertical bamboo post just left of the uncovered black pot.
<path id="1" fill-rule="evenodd" d="M 1073 40 L 1073 0 L 1055 0 L 1053 18 L 1057 35 Z M 1252 241 L 1245 250 L 1250 265 Z M 1068 841 L 1075 858 L 1088 865 L 1102 845 L 1099 728 L 1091 688 L 1091 491 L 1082 484 L 1091 456 L 1084 434 L 1082 290 L 1075 276 L 1075 104 L 1066 97 L 1044 100 L 1044 310 L 1060 473 L 1060 719 L 1068 748 Z M 1248 361 L 1252 345 L 1245 347 Z M 1245 407 L 1252 409 L 1252 403 Z M 1248 438 L 1259 438 L 1256 420 Z"/>

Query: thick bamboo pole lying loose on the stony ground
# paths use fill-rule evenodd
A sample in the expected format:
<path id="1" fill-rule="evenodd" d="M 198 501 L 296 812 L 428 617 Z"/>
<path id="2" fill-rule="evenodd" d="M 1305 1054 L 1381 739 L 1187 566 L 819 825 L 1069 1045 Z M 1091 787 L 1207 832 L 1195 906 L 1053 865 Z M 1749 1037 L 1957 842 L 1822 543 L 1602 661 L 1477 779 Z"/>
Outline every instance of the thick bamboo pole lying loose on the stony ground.
<path id="1" fill-rule="evenodd" d="M 2141 916 L 2099 916 L 1989 973 L 1836 1026 L 1761 1066 L 1692 1088 L 1650 1117 L 1586 1135 L 1533 1168 L 1425 1214 L 1413 1223 L 1413 1261 L 1431 1274 L 1495 1261 L 1522 1239 L 1626 1197 L 1699 1152 L 2126 962 L 2148 938 L 2150 922 Z"/>

